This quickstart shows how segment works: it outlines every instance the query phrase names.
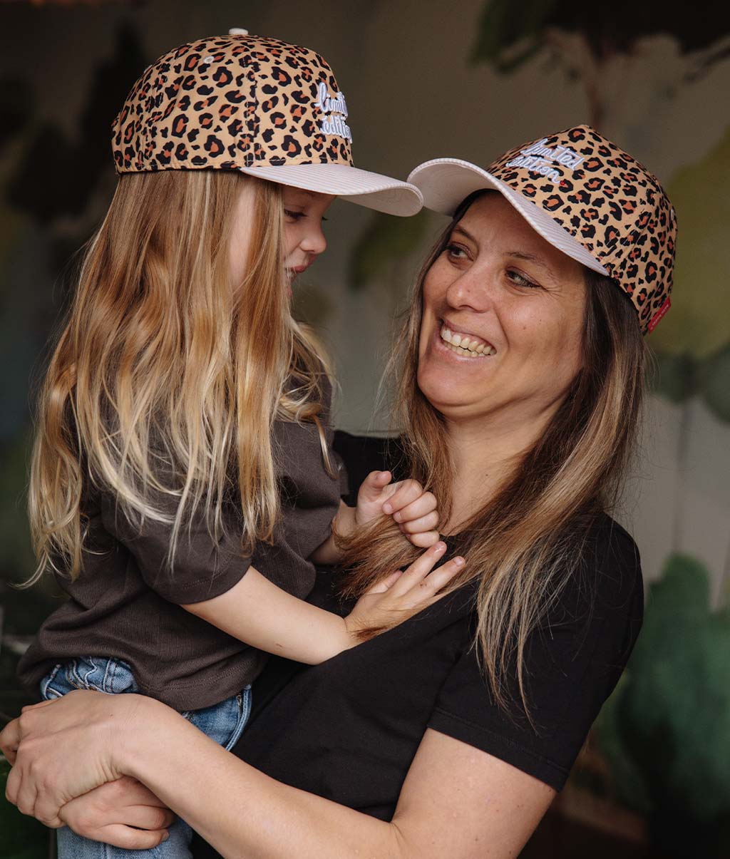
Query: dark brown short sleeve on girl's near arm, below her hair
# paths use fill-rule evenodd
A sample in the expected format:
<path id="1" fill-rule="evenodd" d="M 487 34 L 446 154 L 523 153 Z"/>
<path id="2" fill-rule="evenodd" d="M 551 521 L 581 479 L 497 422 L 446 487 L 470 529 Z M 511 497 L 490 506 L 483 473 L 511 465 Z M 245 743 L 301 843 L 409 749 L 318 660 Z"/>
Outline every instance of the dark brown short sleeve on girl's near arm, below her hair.
<path id="1" fill-rule="evenodd" d="M 141 526 L 133 524 L 111 497 L 102 497 L 100 506 L 106 531 L 131 552 L 147 586 L 170 602 L 185 605 L 225 594 L 251 565 L 251 557 L 240 548 L 240 517 L 232 511 L 225 514 L 227 527 L 217 542 L 203 511 L 193 515 L 190 527 L 180 530 L 171 567 L 167 556 L 172 525 L 149 518 Z"/>

